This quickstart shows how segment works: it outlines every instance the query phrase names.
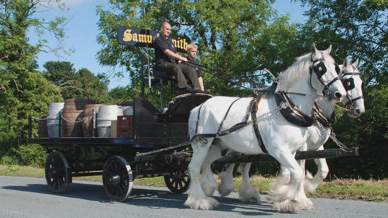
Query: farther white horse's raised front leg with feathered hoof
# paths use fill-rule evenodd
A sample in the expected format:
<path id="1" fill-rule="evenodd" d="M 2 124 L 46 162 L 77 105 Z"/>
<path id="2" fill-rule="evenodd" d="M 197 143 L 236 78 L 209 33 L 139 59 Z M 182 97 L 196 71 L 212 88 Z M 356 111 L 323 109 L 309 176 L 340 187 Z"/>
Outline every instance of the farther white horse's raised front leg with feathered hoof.
<path id="1" fill-rule="evenodd" d="M 323 146 L 321 146 L 318 150 L 323 150 Z M 326 159 L 314 159 L 314 162 L 318 166 L 318 171 L 314 177 L 312 177 L 310 172 L 306 172 L 306 178 L 304 180 L 304 187 L 306 192 L 315 191 L 315 189 L 317 189 L 317 187 L 322 183 L 323 179 L 325 179 L 329 173 Z"/>

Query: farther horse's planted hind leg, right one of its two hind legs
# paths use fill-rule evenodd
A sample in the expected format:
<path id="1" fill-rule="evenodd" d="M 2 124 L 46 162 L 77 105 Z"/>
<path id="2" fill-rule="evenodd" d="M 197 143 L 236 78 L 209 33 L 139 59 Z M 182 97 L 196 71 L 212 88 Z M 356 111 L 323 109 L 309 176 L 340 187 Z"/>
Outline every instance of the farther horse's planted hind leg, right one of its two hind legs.
<path id="1" fill-rule="evenodd" d="M 249 180 L 249 169 L 252 163 L 241 163 L 238 170 L 242 175 L 241 187 L 239 188 L 239 196 L 242 202 L 259 202 L 260 196 L 255 187 L 252 186 Z"/>

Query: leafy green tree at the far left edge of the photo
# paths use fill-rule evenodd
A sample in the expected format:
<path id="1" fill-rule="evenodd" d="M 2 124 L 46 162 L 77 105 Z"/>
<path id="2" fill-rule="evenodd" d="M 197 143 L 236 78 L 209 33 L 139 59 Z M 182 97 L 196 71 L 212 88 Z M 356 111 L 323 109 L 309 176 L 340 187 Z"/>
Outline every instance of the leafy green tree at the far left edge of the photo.
<path id="1" fill-rule="evenodd" d="M 45 48 L 45 41 L 32 46 L 26 36 L 27 30 L 35 27 L 38 35 L 46 30 L 63 39 L 64 18 L 46 22 L 34 17 L 39 7 L 53 3 L 59 0 L 0 1 L 0 157 L 14 156 L 19 164 L 27 164 L 18 148 L 24 146 L 28 115 L 39 118 L 46 115 L 49 102 L 63 101 L 56 87 L 35 70 L 35 56 Z M 33 127 L 36 135 L 37 122 Z"/>

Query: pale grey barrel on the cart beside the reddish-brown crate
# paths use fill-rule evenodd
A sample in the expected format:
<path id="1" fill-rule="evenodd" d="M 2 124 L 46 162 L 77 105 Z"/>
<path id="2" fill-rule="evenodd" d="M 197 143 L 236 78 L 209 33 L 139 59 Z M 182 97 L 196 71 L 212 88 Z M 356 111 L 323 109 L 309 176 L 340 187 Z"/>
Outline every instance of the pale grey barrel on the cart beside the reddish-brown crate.
<path id="1" fill-rule="evenodd" d="M 112 121 L 117 121 L 117 116 L 123 116 L 123 109 L 118 105 L 100 106 L 97 116 L 98 137 L 111 137 Z"/>

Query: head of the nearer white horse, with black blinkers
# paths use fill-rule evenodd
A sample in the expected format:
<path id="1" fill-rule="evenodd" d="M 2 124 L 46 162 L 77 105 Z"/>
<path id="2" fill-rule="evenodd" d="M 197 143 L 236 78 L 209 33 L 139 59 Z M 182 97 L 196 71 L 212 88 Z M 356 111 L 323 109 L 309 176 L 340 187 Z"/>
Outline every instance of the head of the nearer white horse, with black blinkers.
<path id="1" fill-rule="evenodd" d="M 339 81 L 339 67 L 330 56 L 331 45 L 324 51 L 311 45 L 310 86 L 315 90 L 322 90 L 323 95 L 331 102 L 339 102 L 346 95 L 346 91 Z"/>

